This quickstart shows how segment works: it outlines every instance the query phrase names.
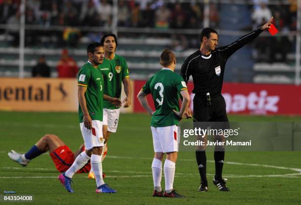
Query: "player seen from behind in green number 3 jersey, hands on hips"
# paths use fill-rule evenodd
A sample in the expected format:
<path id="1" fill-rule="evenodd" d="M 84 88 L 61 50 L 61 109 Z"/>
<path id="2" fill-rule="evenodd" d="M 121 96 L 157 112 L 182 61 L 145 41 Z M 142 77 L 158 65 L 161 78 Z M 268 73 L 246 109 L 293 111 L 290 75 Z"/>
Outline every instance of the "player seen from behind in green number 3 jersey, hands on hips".
<path id="1" fill-rule="evenodd" d="M 155 73 L 143 86 L 137 98 L 141 105 L 151 114 L 151 132 L 154 148 L 154 159 L 151 170 L 154 184 L 154 197 L 184 197 L 173 190 L 176 161 L 179 150 L 178 126 L 183 117 L 190 117 L 190 97 L 183 78 L 174 73 L 176 56 L 164 49 L 160 56 L 162 69 Z M 155 105 L 152 111 L 147 95 L 151 94 Z M 180 95 L 183 97 L 181 109 Z M 165 192 L 161 189 L 162 158 L 164 162 Z"/>

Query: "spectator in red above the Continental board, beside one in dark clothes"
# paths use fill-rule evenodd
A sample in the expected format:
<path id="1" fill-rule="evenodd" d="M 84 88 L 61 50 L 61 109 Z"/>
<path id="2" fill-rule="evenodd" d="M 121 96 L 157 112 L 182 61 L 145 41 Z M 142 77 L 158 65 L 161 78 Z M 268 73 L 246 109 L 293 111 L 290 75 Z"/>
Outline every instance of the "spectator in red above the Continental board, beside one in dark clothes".
<path id="1" fill-rule="evenodd" d="M 59 78 L 74 78 L 78 73 L 76 62 L 69 56 L 67 49 L 62 51 L 57 70 Z"/>

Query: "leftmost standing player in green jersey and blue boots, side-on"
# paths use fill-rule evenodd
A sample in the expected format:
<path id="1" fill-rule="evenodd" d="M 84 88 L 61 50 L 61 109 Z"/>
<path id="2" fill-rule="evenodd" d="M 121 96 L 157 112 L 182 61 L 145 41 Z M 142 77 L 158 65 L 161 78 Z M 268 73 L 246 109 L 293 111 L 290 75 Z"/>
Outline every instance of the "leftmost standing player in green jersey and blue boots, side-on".
<path id="1" fill-rule="evenodd" d="M 98 65 L 103 62 L 103 45 L 94 42 L 87 49 L 88 62 L 78 74 L 78 102 L 79 102 L 79 122 L 81 132 L 85 141 L 86 151 L 79 154 L 72 166 L 58 179 L 65 189 L 71 193 L 71 178 L 76 171 L 81 169 L 90 160 L 91 168 L 94 171 L 96 180 L 96 193 L 116 193 L 104 183 L 102 178 L 101 153 L 103 147 L 102 136 L 102 108 L 103 99 L 117 106 L 121 105 L 118 98 L 103 95 L 103 77 Z"/>

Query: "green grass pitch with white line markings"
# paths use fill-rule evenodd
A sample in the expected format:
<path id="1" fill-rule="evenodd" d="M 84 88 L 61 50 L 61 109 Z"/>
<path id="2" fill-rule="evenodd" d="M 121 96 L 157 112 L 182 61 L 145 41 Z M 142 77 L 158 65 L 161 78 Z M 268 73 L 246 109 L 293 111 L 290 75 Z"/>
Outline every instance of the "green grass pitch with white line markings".
<path id="1" fill-rule="evenodd" d="M 291 122 L 301 121 L 301 117 L 229 116 L 229 120 Z M 26 152 L 45 134 L 56 134 L 71 150 L 78 149 L 83 138 L 77 113 L 0 112 L 1 198 L 3 191 L 15 191 L 16 195 L 32 195 L 31 204 L 37 205 L 301 204 L 301 152 L 226 152 L 223 177 L 228 178 L 229 193 L 220 192 L 211 182 L 213 153 L 207 152 L 209 192 L 200 193 L 197 192 L 200 178 L 195 153 L 180 152 L 174 188 L 186 198 L 153 198 L 149 124 L 150 116 L 146 114 L 120 115 L 118 131 L 111 135 L 108 155 L 103 162 L 105 182 L 116 189 L 117 194 L 95 194 L 95 181 L 88 179 L 87 174 L 74 175 L 75 192 L 70 194 L 57 180 L 59 173 L 48 153 L 23 168 L 11 161 L 7 152 L 11 149 Z"/>

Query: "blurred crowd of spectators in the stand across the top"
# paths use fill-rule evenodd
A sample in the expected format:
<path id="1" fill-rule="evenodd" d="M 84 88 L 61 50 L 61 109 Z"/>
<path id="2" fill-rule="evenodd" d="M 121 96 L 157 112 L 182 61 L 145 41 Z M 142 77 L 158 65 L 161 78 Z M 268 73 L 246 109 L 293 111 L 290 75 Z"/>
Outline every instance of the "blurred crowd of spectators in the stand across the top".
<path id="1" fill-rule="evenodd" d="M 13 45 L 19 41 L 18 27 L 20 24 L 20 1 L 0 0 L 0 24 L 7 24 L 6 32 L 14 38 Z M 242 30 L 250 31 L 274 16 L 274 24 L 279 31 L 295 31 L 297 22 L 297 0 L 288 0 L 289 4 L 272 5 L 268 0 L 253 0 L 249 5 L 252 25 L 246 25 Z M 209 20 L 212 28 L 218 29 L 220 23 L 220 3 L 210 4 Z M 93 34 L 83 32 L 76 27 L 110 27 L 112 24 L 112 0 L 27 0 L 26 24 L 49 26 L 69 26 L 63 31 L 26 31 L 26 44 L 34 45 L 37 37 L 51 36 L 57 45 L 76 46 L 80 36 Z M 178 2 L 164 0 L 118 0 L 118 26 L 159 29 L 202 29 L 204 19 L 204 5 L 197 0 Z M 1 32 L 1 31 L 0 31 Z M 2 31 L 3 32 L 3 31 Z M 188 40 L 182 34 L 169 35 L 173 39 L 176 50 L 189 47 L 195 41 Z M 271 39 L 265 44 L 266 38 L 262 37 L 255 45 L 258 50 L 265 52 L 266 45 L 271 44 L 272 50 L 279 50 L 277 45 L 286 44 L 281 52 L 287 52 L 291 47 L 292 39 L 288 37 L 277 38 L 272 43 Z M 265 45 L 265 46 L 264 46 Z M 283 60 L 283 59 L 282 59 Z"/>

